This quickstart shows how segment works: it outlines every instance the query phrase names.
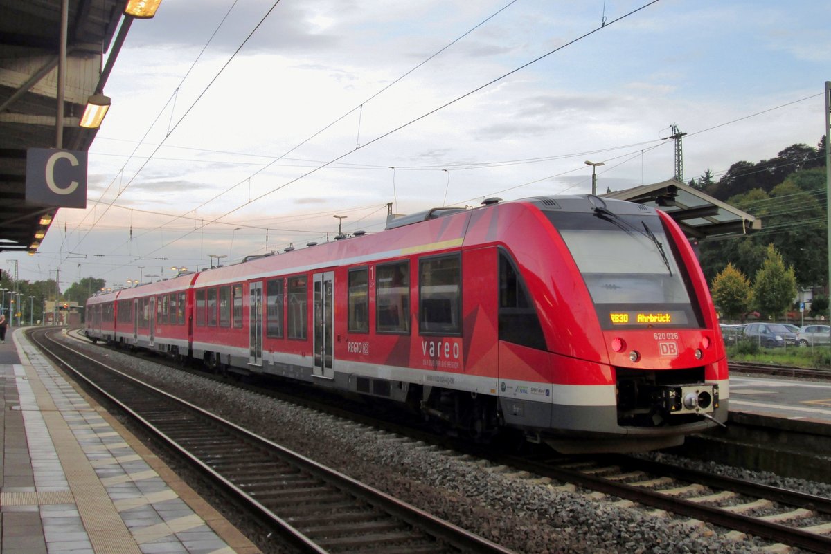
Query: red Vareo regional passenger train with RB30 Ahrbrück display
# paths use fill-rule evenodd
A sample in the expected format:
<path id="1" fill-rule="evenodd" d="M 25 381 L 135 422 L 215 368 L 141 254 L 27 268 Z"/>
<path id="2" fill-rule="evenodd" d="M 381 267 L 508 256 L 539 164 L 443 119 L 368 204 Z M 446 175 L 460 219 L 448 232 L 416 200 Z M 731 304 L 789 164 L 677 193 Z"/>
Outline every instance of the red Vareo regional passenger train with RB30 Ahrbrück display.
<path id="1" fill-rule="evenodd" d="M 680 445 L 727 419 L 706 280 L 662 211 L 494 199 L 355 235 L 92 297 L 87 336 L 563 452 Z"/>

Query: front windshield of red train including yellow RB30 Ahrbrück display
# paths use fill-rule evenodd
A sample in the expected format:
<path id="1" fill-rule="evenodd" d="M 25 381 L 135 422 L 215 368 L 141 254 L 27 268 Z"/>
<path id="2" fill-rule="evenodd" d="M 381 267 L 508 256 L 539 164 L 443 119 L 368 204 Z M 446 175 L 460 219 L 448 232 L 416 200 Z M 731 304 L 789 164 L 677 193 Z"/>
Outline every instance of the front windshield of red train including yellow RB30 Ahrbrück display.
<path id="1" fill-rule="evenodd" d="M 686 270 L 658 216 L 547 212 L 603 328 L 701 327 Z"/>

